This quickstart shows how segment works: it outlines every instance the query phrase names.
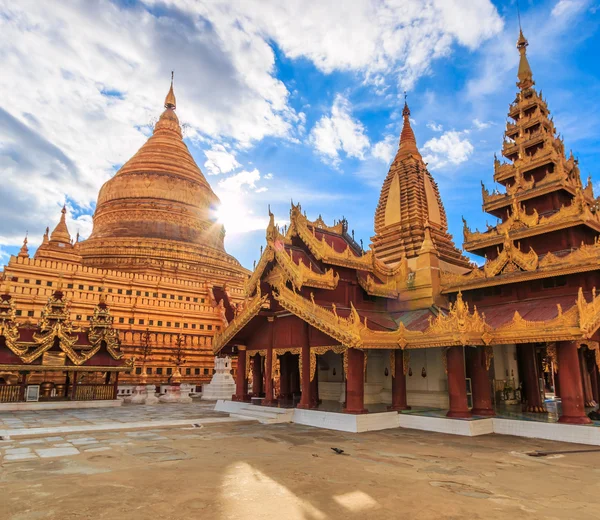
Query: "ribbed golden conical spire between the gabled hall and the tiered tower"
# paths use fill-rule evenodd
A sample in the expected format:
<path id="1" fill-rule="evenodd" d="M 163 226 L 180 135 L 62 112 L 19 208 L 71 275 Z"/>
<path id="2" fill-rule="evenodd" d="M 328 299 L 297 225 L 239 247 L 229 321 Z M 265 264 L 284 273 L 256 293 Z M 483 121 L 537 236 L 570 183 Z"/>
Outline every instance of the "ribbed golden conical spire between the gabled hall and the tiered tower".
<path id="1" fill-rule="evenodd" d="M 406 103 L 402 115 L 404 125 L 400 146 L 383 183 L 375 212 L 375 236 L 372 238 L 375 256 L 388 265 L 396 264 L 403 257 L 418 256 L 425 239 L 425 228 L 429 226 L 440 261 L 468 268 L 469 261 L 448 233 L 438 187 L 417 148 Z"/>

